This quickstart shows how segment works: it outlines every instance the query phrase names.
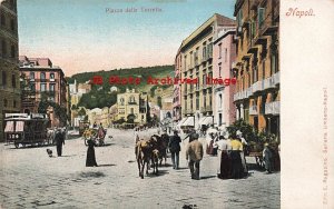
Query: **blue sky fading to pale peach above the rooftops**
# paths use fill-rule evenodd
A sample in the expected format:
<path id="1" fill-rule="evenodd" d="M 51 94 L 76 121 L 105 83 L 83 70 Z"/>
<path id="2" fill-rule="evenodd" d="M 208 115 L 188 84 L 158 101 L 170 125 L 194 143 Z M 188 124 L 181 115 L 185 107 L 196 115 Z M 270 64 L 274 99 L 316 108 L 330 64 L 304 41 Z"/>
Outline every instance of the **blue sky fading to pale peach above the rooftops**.
<path id="1" fill-rule="evenodd" d="M 18 0 L 19 53 L 50 58 L 66 76 L 173 64 L 181 41 L 214 13 L 234 19 L 234 0 Z"/>

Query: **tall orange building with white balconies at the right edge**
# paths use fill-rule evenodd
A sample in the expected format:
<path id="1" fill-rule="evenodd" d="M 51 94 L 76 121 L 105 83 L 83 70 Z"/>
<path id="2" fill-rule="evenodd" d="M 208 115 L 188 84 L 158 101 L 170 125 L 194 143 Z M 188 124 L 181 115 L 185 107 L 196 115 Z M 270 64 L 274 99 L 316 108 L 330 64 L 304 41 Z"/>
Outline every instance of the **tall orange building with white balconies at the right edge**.
<path id="1" fill-rule="evenodd" d="M 237 0 L 237 119 L 279 136 L 279 0 Z"/>

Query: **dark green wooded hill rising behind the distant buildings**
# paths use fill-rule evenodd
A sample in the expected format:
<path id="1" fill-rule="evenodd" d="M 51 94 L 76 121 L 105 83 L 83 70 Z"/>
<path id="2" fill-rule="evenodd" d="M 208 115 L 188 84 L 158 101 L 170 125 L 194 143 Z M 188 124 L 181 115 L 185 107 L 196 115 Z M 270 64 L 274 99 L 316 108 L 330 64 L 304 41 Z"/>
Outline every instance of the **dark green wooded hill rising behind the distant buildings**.
<path id="1" fill-rule="evenodd" d="M 110 92 L 111 87 L 117 87 L 118 92 L 125 92 L 127 88 L 136 89 L 141 92 L 147 92 L 149 96 L 154 96 L 154 90 L 156 84 L 147 84 L 147 78 L 166 78 L 167 76 L 174 77 L 174 66 L 155 66 L 155 67 L 140 67 L 131 69 L 115 69 L 109 71 L 94 71 L 94 72 L 84 72 L 73 74 L 70 78 L 67 78 L 69 83 L 73 83 L 77 80 L 77 83 L 85 83 L 86 81 L 91 80 L 95 76 L 101 76 L 104 79 L 102 84 L 92 84 L 92 90 L 89 93 L 86 93 L 80 99 L 78 106 L 86 107 L 88 109 L 92 108 L 104 108 L 110 107 L 116 103 L 117 93 Z M 116 84 L 109 83 L 110 77 L 118 78 L 140 78 L 140 84 Z M 159 86 L 163 89 L 173 88 L 173 86 Z M 170 89 L 169 89 L 170 90 Z"/>

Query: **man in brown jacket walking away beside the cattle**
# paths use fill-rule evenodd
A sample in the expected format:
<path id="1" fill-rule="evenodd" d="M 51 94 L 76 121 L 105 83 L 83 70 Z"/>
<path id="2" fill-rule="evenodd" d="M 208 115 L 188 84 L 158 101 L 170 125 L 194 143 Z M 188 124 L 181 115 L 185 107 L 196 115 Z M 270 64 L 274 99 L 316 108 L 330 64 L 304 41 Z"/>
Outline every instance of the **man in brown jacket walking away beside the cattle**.
<path id="1" fill-rule="evenodd" d="M 189 143 L 186 150 L 186 160 L 188 161 L 191 179 L 199 180 L 199 162 L 202 159 L 203 146 L 198 141 L 198 133 L 193 133 L 189 137 Z"/>

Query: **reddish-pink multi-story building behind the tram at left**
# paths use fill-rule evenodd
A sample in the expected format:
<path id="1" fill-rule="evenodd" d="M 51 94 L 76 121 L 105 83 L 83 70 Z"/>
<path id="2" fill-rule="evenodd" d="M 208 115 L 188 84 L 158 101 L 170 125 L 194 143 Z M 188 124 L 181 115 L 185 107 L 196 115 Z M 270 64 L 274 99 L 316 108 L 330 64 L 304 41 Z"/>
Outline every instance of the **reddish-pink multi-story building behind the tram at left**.
<path id="1" fill-rule="evenodd" d="M 68 109 L 68 87 L 61 68 L 53 66 L 49 58 L 20 56 L 19 59 L 22 82 L 29 92 L 22 97 L 22 111 L 38 112 L 41 100 L 52 101 Z M 51 127 L 65 126 L 65 121 L 59 121 L 53 108 L 49 108 L 48 113 Z"/>

